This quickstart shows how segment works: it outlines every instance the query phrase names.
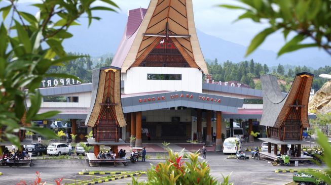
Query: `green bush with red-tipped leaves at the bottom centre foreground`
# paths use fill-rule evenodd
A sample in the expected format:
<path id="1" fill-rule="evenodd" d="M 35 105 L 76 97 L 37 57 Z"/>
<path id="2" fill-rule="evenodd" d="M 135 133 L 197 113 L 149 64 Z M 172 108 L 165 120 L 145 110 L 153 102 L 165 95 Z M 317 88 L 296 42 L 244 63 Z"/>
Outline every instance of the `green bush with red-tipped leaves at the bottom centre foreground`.
<path id="1" fill-rule="evenodd" d="M 181 161 L 182 152 L 173 153 L 169 149 L 168 160 L 156 166 L 151 165 L 146 173 L 147 181 L 138 182 L 132 177 L 132 184 L 232 184 L 229 183 L 229 177 L 225 177 L 223 183 L 217 182 L 210 175 L 210 167 L 206 161 L 198 160 L 198 153 L 190 154 L 189 161 Z"/>

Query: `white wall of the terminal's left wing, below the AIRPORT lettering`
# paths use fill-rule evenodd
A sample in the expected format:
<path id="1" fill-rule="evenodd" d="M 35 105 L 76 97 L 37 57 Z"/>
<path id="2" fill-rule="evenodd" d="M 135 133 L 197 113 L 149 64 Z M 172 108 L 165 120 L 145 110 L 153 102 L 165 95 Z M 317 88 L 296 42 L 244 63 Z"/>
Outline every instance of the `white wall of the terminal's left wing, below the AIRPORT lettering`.
<path id="1" fill-rule="evenodd" d="M 44 102 L 42 99 L 41 108 L 50 107 L 50 108 L 70 108 L 70 107 L 90 107 L 91 104 L 91 92 L 79 92 L 71 94 L 62 94 L 60 97 L 78 97 L 78 102 Z M 53 96 L 50 96 L 53 97 Z M 55 97 L 55 96 L 54 96 Z M 31 106 L 29 99 L 26 100 L 27 107 Z"/>

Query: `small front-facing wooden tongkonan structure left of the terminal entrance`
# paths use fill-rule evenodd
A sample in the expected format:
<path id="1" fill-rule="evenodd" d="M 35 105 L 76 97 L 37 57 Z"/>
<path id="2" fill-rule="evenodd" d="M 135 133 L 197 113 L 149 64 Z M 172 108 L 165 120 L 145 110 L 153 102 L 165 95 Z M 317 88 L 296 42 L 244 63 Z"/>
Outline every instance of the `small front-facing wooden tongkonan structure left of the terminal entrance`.
<path id="1" fill-rule="evenodd" d="M 126 125 L 121 105 L 121 70 L 104 67 L 93 70 L 91 109 L 85 124 L 93 127 L 93 138 L 88 142 L 94 146 L 94 155 L 100 145 L 109 146 L 118 153 L 118 145 L 125 144 L 119 136 L 120 127 Z"/>

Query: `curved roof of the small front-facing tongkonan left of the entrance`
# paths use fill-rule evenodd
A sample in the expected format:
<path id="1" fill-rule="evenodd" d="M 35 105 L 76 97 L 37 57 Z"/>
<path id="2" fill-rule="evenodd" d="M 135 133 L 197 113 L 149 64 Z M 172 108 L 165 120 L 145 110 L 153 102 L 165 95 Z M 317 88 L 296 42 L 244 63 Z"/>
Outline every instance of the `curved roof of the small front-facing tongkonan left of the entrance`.
<path id="1" fill-rule="evenodd" d="M 126 125 L 121 104 L 121 70 L 117 67 L 104 67 L 92 72 L 92 97 L 90 112 L 85 125 L 94 127 L 100 119 L 103 109 L 110 110 L 113 119 L 122 127 Z"/>

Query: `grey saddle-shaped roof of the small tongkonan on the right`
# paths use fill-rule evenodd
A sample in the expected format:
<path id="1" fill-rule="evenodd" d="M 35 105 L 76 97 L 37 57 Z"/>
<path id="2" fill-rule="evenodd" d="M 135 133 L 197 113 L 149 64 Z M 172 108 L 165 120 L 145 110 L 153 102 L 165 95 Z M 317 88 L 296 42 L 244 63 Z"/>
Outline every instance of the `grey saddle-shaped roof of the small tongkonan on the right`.
<path id="1" fill-rule="evenodd" d="M 303 127 L 310 127 L 308 121 L 308 101 L 313 76 L 313 74 L 306 72 L 297 74 L 285 97 L 281 94 L 275 76 L 261 76 L 263 94 L 261 125 L 280 128 L 290 109 L 297 107 Z"/>

